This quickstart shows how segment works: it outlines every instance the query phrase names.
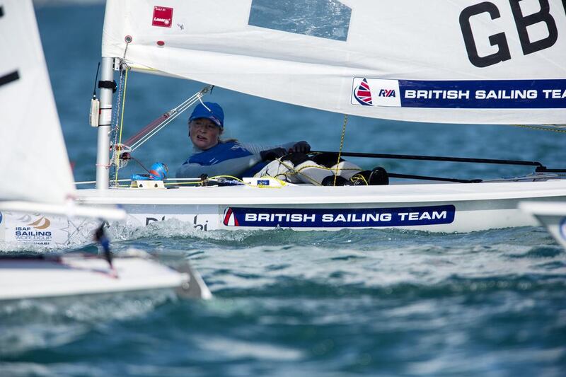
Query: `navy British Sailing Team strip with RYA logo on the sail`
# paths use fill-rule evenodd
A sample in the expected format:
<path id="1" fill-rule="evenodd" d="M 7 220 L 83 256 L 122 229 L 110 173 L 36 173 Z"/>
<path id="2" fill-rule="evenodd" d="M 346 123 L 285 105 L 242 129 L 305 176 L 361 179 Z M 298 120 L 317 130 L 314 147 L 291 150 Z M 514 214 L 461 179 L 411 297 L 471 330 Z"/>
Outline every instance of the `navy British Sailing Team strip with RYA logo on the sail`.
<path id="1" fill-rule="evenodd" d="M 566 108 L 565 80 L 354 79 L 352 105 L 403 108 Z"/>

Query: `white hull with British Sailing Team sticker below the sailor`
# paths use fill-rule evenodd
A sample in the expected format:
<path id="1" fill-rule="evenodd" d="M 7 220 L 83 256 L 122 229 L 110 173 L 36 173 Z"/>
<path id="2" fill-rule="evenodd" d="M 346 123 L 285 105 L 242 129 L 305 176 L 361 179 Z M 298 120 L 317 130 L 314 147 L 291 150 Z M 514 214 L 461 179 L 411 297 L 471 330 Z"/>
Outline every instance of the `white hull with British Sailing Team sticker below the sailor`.
<path id="1" fill-rule="evenodd" d="M 128 213 L 125 225 L 133 227 L 178 219 L 185 222 L 187 228 L 200 231 L 280 227 L 297 231 L 401 228 L 470 232 L 535 226 L 535 219 L 517 209 L 519 202 L 565 201 L 566 180 L 347 187 L 110 189 L 79 190 L 79 195 L 78 200 L 83 204 L 120 204 Z M 43 242 L 44 245 L 74 244 L 74 238 L 85 238 L 84 235 L 96 226 L 91 221 L 52 217 L 51 233 L 47 235 L 46 229 L 39 230 L 30 225 L 36 224 L 40 216 L 4 214 L 4 240 Z"/>

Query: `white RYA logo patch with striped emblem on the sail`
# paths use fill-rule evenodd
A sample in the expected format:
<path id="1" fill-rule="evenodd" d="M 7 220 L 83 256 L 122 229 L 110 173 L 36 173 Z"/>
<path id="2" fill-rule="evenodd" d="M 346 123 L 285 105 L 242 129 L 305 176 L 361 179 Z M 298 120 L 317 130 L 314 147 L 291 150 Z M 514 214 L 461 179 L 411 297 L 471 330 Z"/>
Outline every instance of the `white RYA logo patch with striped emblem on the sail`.
<path id="1" fill-rule="evenodd" d="M 372 92 L 377 95 L 372 96 Z M 399 81 L 389 79 L 367 79 L 354 77 L 352 83 L 352 105 L 400 107 Z"/>

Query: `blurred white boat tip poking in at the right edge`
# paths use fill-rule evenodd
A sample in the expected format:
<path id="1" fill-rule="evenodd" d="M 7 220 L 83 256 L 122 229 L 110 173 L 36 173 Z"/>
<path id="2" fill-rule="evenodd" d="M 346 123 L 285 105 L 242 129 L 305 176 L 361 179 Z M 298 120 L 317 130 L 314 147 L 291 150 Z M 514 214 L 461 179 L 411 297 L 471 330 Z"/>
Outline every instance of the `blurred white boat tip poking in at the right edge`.
<path id="1" fill-rule="evenodd" d="M 566 249 L 566 202 L 522 202 L 519 208 L 535 216 Z"/>

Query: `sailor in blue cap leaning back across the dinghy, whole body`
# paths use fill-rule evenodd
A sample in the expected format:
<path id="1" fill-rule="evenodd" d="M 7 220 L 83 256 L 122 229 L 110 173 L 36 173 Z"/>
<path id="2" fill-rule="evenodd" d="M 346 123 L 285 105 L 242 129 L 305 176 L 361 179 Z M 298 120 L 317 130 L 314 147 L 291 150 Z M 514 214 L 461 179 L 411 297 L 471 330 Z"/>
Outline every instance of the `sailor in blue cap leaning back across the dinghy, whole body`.
<path id="1" fill-rule="evenodd" d="M 279 146 L 222 140 L 224 110 L 218 103 L 200 103 L 189 117 L 189 138 L 192 154 L 180 168 L 177 178 L 231 175 L 234 177 L 275 177 L 294 183 L 312 185 L 387 185 L 383 168 L 367 171 L 336 153 L 320 153 L 310 158 L 311 146 L 306 141 Z M 336 176 L 336 178 L 335 178 Z"/>

